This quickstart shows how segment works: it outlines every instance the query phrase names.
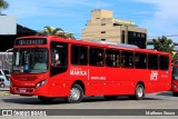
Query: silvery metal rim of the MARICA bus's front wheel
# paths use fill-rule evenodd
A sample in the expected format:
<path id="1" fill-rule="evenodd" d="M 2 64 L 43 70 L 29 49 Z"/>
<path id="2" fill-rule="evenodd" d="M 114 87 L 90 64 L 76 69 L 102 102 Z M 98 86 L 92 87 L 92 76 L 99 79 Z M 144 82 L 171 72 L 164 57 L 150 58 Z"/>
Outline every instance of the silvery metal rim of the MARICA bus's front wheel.
<path id="1" fill-rule="evenodd" d="M 78 88 L 71 88 L 69 98 L 71 100 L 78 100 L 80 98 L 80 90 Z"/>

